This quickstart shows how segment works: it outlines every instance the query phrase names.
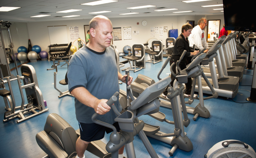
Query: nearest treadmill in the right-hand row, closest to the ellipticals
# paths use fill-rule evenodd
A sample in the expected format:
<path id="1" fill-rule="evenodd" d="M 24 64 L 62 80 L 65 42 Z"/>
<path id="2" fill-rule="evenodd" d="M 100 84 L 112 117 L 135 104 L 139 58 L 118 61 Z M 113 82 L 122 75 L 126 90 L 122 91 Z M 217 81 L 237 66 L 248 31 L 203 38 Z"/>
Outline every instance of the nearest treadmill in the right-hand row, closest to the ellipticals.
<path id="1" fill-rule="evenodd" d="M 220 60 L 220 53 L 219 49 L 221 48 L 220 43 L 222 38 L 219 38 L 210 48 L 210 50 L 206 53 L 206 58 L 201 62 L 202 65 L 208 65 L 210 67 L 211 71 L 211 79 L 208 79 L 209 82 L 213 85 L 214 90 L 219 94 L 219 96 L 227 97 L 227 98 L 234 98 L 238 92 L 238 86 L 239 86 L 239 78 L 234 76 L 228 76 L 228 77 L 217 77 L 216 68 L 214 64 L 213 58 L 216 59 L 216 64 L 218 68 L 218 72 L 220 75 L 223 74 L 222 70 L 222 63 Z M 215 49 L 215 47 L 219 47 L 219 49 Z M 220 76 L 219 75 L 219 76 Z M 207 85 L 207 83 L 202 80 L 202 89 L 203 93 L 206 94 L 212 94 L 212 91 L 210 87 Z M 198 85 L 195 87 L 195 91 L 198 92 Z"/>

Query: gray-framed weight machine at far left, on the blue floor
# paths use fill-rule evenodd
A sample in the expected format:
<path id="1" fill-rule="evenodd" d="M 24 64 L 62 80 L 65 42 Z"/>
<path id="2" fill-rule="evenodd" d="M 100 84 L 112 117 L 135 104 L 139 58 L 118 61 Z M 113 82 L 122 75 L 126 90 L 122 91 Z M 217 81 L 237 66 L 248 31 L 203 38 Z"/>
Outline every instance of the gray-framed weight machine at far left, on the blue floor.
<path id="1" fill-rule="evenodd" d="M 5 88 L 4 84 L 8 83 L 10 95 L 12 98 L 11 102 L 9 100 L 11 108 L 7 107 L 8 103 L 5 101 L 6 109 L 8 111 L 4 113 L 4 120 L 3 120 L 4 122 L 7 122 L 9 120 L 12 120 L 18 117 L 20 118 L 20 120 L 18 120 L 17 123 L 20 123 L 22 121 L 25 121 L 31 117 L 42 114 L 49 110 L 48 108 L 45 108 L 43 94 L 39 89 L 39 85 L 36 77 L 36 71 L 34 67 L 28 64 L 23 64 L 20 67 L 20 71 L 22 76 L 17 75 L 15 79 L 7 78 L 7 80 L 1 80 L 1 84 L 4 88 Z M 0 73 L 2 78 L 3 76 L 2 76 L 1 70 L 0 70 Z M 20 95 L 21 95 L 21 106 L 20 106 L 20 110 L 18 111 L 15 111 L 16 109 L 15 100 L 14 100 L 12 85 L 11 85 L 11 81 L 15 81 L 15 80 L 18 81 L 18 86 L 19 86 Z M 23 80 L 23 84 L 24 84 L 23 86 L 21 86 L 20 80 Z M 24 105 L 25 99 L 24 99 L 22 89 L 25 89 L 26 97 L 28 99 L 28 104 L 26 105 Z M 36 110 L 39 110 L 39 111 L 36 111 Z M 28 113 L 33 113 L 33 114 L 25 117 L 24 115 Z"/>

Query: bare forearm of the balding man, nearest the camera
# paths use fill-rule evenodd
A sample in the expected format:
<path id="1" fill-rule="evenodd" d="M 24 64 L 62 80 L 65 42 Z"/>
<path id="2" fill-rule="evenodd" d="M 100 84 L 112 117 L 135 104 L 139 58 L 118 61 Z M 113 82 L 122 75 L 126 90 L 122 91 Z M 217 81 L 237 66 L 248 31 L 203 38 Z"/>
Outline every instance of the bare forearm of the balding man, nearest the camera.
<path id="1" fill-rule="evenodd" d="M 77 87 L 70 92 L 78 101 L 82 104 L 94 108 L 94 105 L 97 105 L 97 99 L 94 97 L 86 88 Z"/>

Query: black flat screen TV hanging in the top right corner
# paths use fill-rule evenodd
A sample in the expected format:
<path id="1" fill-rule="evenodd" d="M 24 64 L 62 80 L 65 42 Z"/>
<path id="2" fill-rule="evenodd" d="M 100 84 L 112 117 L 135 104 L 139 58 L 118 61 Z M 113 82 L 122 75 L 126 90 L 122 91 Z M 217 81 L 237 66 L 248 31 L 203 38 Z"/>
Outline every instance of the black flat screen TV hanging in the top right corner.
<path id="1" fill-rule="evenodd" d="M 244 0 L 223 0 L 225 30 L 256 32 L 254 14 L 244 7 Z"/>

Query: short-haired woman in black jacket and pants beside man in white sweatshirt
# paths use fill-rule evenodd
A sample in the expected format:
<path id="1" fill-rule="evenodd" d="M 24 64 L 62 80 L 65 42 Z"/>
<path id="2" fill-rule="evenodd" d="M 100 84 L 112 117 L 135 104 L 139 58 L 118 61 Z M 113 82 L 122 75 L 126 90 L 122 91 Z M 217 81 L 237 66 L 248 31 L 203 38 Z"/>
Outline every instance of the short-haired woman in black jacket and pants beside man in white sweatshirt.
<path id="1" fill-rule="evenodd" d="M 182 28 L 181 28 L 182 33 L 180 34 L 180 36 L 176 39 L 176 41 L 174 43 L 174 51 L 171 56 L 170 66 L 172 65 L 173 62 L 176 63 L 177 60 L 180 59 L 180 56 L 183 53 L 183 51 L 186 50 L 187 53 L 185 54 L 183 59 L 180 61 L 180 65 L 179 65 L 180 69 L 183 70 L 187 66 L 186 65 L 187 57 L 190 55 L 196 55 L 199 52 L 199 51 L 195 51 L 189 47 L 188 36 L 191 34 L 192 29 L 193 29 L 193 27 L 189 23 L 184 24 L 182 26 Z M 176 64 L 172 67 L 172 70 L 174 73 L 176 73 Z M 173 87 L 173 82 L 175 80 L 173 75 L 171 75 L 171 79 L 172 79 L 171 86 Z M 190 96 L 191 88 L 192 88 L 191 78 L 188 78 L 188 83 L 185 83 L 185 85 L 186 85 L 185 95 Z M 165 91 L 163 93 L 164 97 L 166 97 L 166 95 L 167 95 L 167 88 L 165 89 Z"/>

